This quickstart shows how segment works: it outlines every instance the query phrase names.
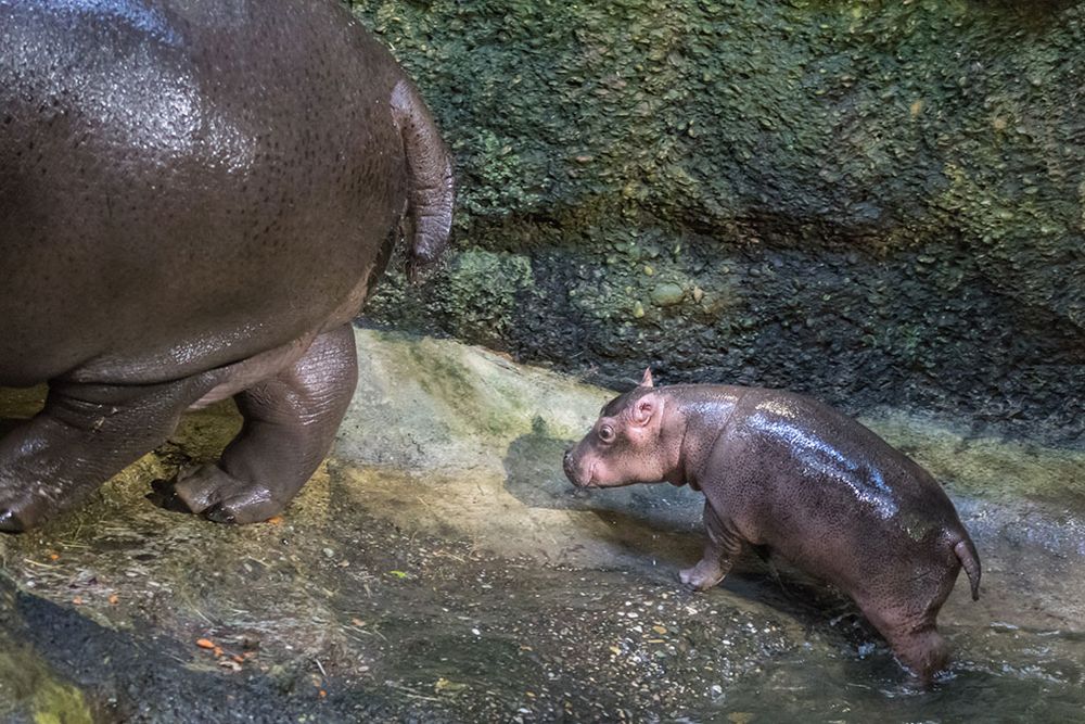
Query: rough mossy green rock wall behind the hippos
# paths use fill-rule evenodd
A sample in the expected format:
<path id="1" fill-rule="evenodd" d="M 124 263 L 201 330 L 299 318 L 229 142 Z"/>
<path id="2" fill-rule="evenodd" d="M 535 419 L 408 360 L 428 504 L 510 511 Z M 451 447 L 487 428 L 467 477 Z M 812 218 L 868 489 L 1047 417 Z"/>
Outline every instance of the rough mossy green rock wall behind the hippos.
<path id="1" fill-rule="evenodd" d="M 447 266 L 378 321 L 1081 440 L 1076 3 L 352 5 L 460 183 Z"/>

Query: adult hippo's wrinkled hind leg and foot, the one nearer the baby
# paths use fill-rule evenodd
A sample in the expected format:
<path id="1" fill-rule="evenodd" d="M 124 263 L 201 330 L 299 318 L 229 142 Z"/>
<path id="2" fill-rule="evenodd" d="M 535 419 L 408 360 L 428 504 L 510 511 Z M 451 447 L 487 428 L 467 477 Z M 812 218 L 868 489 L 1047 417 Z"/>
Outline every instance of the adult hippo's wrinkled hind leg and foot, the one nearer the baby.
<path id="1" fill-rule="evenodd" d="M 328 455 L 357 381 L 350 326 L 317 336 L 296 363 L 234 396 L 244 425 L 217 465 L 155 483 L 152 499 L 220 523 L 275 516 Z"/>

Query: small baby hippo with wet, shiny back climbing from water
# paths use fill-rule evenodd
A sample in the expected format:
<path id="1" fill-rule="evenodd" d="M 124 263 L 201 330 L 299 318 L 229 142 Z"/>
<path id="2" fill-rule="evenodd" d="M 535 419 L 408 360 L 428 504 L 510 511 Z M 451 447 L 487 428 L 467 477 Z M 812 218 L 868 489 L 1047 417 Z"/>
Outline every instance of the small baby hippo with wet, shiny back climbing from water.
<path id="1" fill-rule="evenodd" d="M 719 583 L 743 542 L 768 546 L 848 594 L 924 684 L 947 663 L 935 627 L 963 566 L 980 560 L 937 482 L 855 420 L 777 390 L 687 384 L 603 407 L 565 454 L 578 487 L 667 481 L 704 493 L 704 557 L 681 571 Z"/>

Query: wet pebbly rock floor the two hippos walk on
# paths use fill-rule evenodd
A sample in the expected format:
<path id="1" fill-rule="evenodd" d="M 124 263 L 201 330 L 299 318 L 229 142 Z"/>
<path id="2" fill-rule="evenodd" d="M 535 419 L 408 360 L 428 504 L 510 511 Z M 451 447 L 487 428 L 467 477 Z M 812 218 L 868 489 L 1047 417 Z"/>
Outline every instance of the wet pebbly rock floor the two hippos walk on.
<path id="1" fill-rule="evenodd" d="M 0 717 L 13 722 L 1071 721 L 1085 706 L 1085 452 L 866 421 L 927 466 L 984 563 L 907 686 L 855 608 L 750 554 L 684 590 L 700 499 L 574 491 L 561 453 L 610 394 L 454 342 L 363 331 L 334 455 L 281 519 L 144 499 L 212 459 L 229 405 L 82 508 L 0 539 Z M 0 417 L 37 391 L 4 391 Z"/>

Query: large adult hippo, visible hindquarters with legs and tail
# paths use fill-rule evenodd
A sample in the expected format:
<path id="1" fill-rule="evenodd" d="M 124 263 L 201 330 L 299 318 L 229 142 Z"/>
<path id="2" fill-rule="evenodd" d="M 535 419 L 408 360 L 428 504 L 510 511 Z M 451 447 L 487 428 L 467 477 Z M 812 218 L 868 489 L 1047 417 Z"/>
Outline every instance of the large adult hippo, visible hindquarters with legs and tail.
<path id="1" fill-rule="evenodd" d="M 217 466 L 164 501 L 281 510 L 355 388 L 350 319 L 409 229 L 448 237 L 448 155 L 333 0 L 0 0 L 0 530 L 40 523 L 234 395 Z"/>

